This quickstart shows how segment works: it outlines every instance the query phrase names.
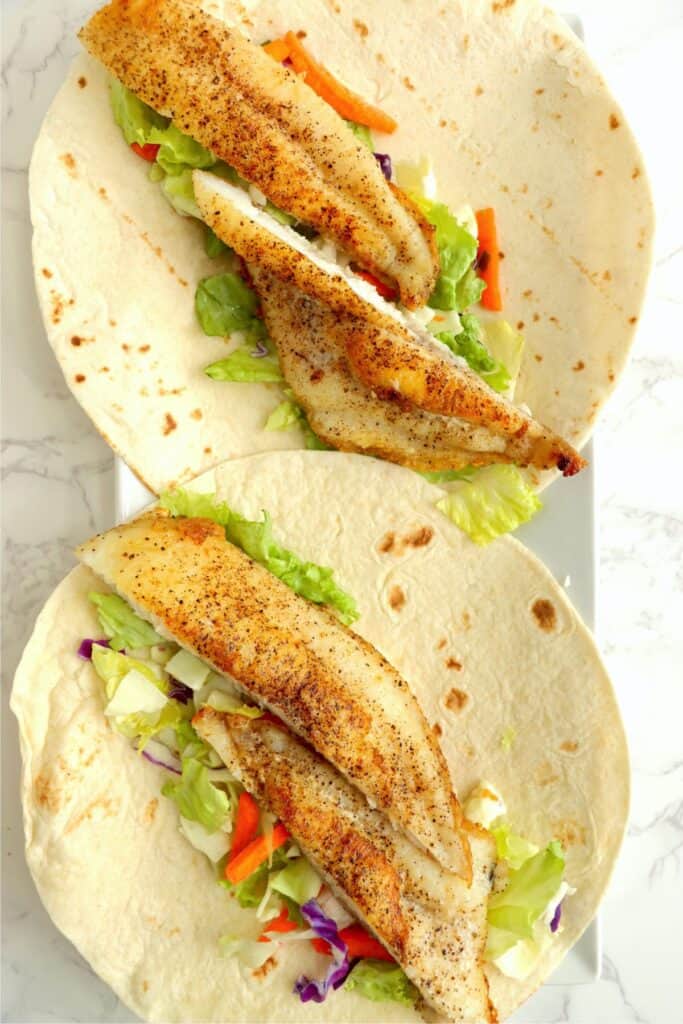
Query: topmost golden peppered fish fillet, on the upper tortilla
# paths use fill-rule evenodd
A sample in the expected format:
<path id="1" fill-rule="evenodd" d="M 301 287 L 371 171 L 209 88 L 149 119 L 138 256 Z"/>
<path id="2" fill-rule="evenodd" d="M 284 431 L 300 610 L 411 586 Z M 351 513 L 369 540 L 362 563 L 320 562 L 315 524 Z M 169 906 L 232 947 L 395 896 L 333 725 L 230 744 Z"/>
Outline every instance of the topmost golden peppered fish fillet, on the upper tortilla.
<path id="1" fill-rule="evenodd" d="M 395 282 L 407 306 L 424 305 L 438 275 L 433 228 L 292 71 L 191 0 L 115 0 L 80 38 L 279 207 Z"/>

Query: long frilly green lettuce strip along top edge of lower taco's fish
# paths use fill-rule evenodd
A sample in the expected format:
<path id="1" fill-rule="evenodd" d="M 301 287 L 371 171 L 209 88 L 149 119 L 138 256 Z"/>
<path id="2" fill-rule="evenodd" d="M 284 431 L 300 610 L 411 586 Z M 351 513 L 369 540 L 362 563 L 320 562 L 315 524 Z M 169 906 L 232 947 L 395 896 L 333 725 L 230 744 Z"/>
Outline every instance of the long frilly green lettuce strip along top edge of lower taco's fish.
<path id="1" fill-rule="evenodd" d="M 225 502 L 216 502 L 213 495 L 183 489 L 165 492 L 160 504 L 174 516 L 200 516 L 219 523 L 231 544 L 237 544 L 295 593 L 315 604 L 332 605 L 346 625 L 358 617 L 354 599 L 337 585 L 331 568 L 305 562 L 278 544 L 267 512 L 263 512 L 263 521 L 257 522 L 233 512 Z"/>

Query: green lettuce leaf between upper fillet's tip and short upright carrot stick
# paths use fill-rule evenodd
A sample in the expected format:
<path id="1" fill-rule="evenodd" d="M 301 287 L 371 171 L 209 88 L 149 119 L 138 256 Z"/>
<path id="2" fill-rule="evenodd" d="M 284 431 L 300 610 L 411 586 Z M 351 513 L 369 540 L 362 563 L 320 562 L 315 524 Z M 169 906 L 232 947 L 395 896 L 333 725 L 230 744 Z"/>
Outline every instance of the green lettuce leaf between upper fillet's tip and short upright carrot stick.
<path id="1" fill-rule="evenodd" d="M 459 224 L 444 203 L 436 203 L 424 196 L 413 196 L 430 224 L 436 228 L 436 246 L 441 270 L 436 287 L 429 299 L 433 309 L 466 309 L 478 301 L 483 282 L 472 269 L 477 254 L 477 241 L 467 228 Z"/>

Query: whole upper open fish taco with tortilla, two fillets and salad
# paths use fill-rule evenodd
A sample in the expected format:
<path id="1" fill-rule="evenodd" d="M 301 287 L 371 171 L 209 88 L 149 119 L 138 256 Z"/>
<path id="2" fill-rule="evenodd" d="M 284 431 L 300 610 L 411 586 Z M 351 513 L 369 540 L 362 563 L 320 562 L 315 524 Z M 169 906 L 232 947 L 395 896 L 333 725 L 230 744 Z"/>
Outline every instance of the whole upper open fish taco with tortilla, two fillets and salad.
<path id="1" fill-rule="evenodd" d="M 430 474 L 466 529 L 489 508 L 485 541 L 584 465 L 649 264 L 634 140 L 530 0 L 397 15 L 115 0 L 82 29 L 32 161 L 36 280 L 155 493 L 333 447 Z"/>

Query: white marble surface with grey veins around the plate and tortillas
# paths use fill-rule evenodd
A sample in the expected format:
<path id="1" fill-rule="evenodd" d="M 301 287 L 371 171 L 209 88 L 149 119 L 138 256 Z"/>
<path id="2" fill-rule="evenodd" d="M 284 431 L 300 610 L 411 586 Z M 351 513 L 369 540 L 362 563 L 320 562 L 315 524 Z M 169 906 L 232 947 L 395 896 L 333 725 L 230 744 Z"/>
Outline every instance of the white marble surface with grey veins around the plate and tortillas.
<path id="1" fill-rule="evenodd" d="M 546 988 L 530 1016 L 544 1024 L 674 1024 L 683 1019 L 683 5 L 563 6 L 583 17 L 589 48 L 640 137 L 658 234 L 633 360 L 598 431 L 599 639 L 631 741 L 631 823 L 604 902 L 601 981 Z M 36 612 L 71 566 L 73 546 L 109 525 L 114 509 L 112 455 L 44 342 L 27 201 L 32 141 L 91 7 L 88 0 L 2 0 L 1 1015 L 16 1022 L 132 1019 L 58 935 L 35 894 L 22 853 L 18 750 L 7 713 Z"/>

